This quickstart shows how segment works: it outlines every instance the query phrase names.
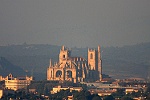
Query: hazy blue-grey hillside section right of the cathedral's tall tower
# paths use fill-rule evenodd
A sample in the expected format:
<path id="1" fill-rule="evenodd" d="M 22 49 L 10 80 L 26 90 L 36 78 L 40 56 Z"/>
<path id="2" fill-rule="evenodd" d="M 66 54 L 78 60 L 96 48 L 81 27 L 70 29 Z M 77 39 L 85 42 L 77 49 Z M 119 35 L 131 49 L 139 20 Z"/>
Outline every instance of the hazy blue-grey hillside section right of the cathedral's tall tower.
<path id="1" fill-rule="evenodd" d="M 115 77 L 150 76 L 150 43 L 104 48 L 104 72 Z"/>

